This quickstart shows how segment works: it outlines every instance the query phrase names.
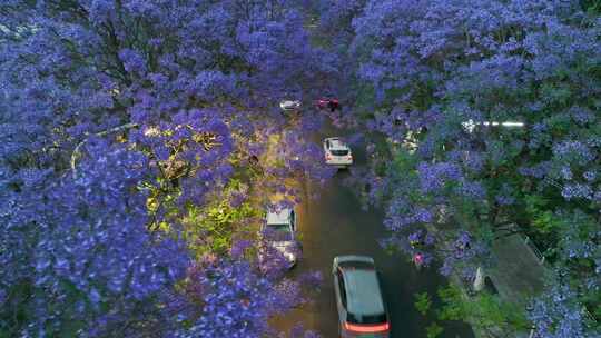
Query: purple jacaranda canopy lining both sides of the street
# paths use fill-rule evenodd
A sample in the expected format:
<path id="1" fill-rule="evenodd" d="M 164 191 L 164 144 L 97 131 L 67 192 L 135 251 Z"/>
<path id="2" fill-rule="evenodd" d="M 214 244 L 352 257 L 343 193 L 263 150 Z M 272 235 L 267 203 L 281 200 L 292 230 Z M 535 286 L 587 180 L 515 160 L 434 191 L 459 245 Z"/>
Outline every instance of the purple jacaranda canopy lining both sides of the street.
<path id="1" fill-rule="evenodd" d="M 319 120 L 277 102 L 332 89 L 336 122 L 388 139 L 354 172 L 387 207 L 385 247 L 470 278 L 496 239 L 528 233 L 554 270 L 536 334 L 599 337 L 581 311 L 601 317 L 599 10 L 3 1 L 0 337 L 277 335 L 266 318 L 319 278 L 258 274 L 257 195 L 332 175 L 305 142 Z M 283 160 L 262 162 L 284 129 Z M 410 135 L 415 151 L 390 147 Z"/>

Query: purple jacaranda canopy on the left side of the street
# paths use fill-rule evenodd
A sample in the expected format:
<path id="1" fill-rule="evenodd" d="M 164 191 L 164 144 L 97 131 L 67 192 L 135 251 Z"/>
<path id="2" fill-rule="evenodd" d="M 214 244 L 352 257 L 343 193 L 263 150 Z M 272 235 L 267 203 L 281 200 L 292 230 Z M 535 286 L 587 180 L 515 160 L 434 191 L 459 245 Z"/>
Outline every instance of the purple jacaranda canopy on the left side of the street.
<path id="1" fill-rule="evenodd" d="M 273 311 L 244 299 L 272 289 L 227 257 L 190 275 L 180 220 L 260 157 L 286 123 L 279 99 L 332 71 L 303 14 L 277 0 L 11 0 L 0 18 L 1 335 L 263 335 L 244 324 Z M 231 282 L 194 302 L 194 276 Z"/>

